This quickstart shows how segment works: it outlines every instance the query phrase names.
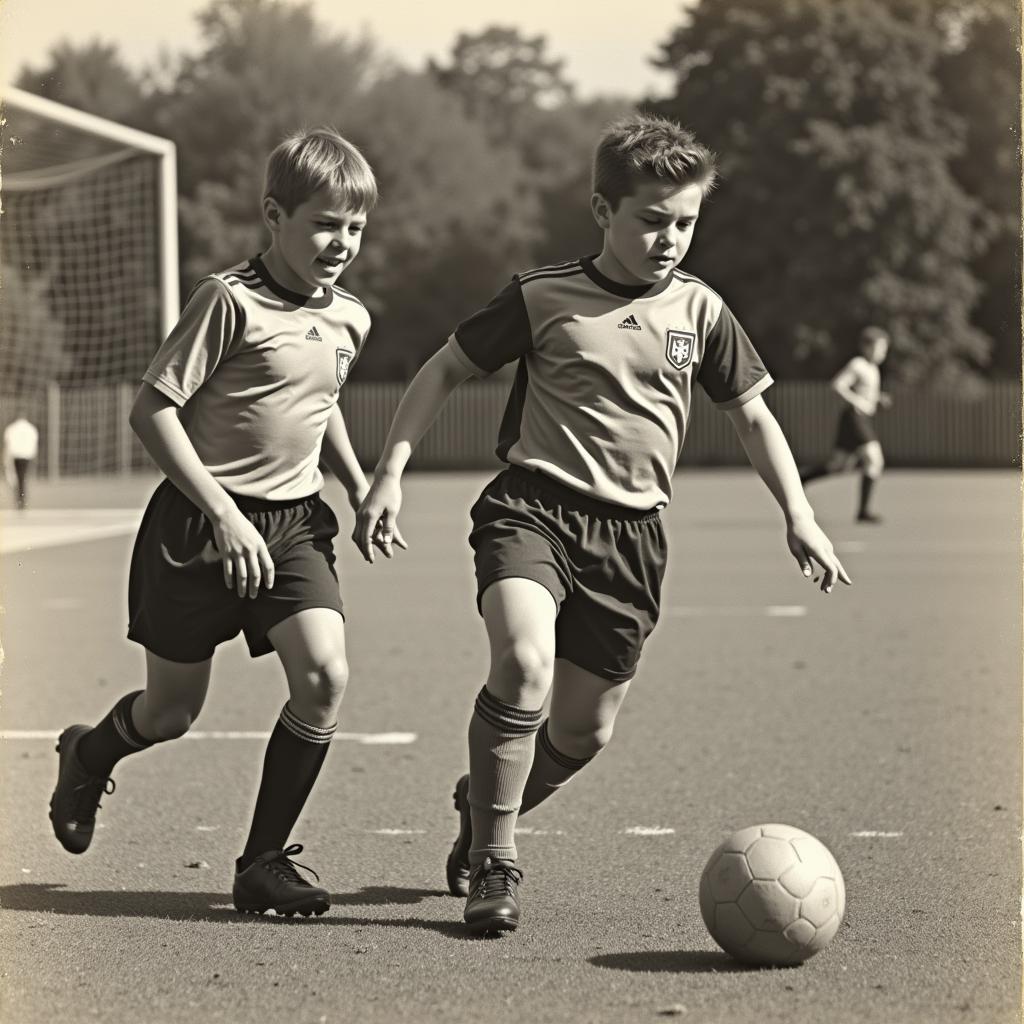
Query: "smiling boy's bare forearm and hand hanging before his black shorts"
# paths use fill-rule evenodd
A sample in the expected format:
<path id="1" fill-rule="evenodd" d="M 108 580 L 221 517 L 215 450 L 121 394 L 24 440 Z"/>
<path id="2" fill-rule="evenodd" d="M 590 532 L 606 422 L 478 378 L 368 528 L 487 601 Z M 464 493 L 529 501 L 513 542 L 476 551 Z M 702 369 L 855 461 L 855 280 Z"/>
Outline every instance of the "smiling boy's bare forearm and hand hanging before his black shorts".
<path id="1" fill-rule="evenodd" d="M 221 561 L 224 586 L 237 590 L 239 597 L 255 597 L 261 584 L 273 587 L 273 560 L 266 543 L 203 465 L 178 419 L 178 407 L 143 384 L 128 422 L 171 483 L 210 520 L 217 546 L 210 560 Z"/>

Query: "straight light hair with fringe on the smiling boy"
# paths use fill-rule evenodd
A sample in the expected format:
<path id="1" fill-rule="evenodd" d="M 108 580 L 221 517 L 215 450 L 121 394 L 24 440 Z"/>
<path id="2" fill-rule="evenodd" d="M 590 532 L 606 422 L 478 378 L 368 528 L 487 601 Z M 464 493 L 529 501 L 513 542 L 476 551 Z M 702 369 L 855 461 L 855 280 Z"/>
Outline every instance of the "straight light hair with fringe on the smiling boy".
<path id="1" fill-rule="evenodd" d="M 377 204 L 377 179 L 367 158 L 333 128 L 295 132 L 267 158 L 263 198 L 294 213 L 321 189 L 346 210 L 360 213 Z"/>

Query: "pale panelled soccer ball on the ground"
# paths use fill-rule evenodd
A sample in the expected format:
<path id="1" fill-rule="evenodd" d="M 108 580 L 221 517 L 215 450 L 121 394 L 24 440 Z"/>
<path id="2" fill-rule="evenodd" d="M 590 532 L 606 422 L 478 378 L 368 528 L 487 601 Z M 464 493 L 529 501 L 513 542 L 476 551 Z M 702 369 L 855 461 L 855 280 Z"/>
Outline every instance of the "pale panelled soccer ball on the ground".
<path id="1" fill-rule="evenodd" d="M 823 949 L 839 931 L 846 887 L 836 858 L 790 825 L 733 833 L 700 876 L 700 914 L 712 938 L 745 964 L 783 967 Z"/>

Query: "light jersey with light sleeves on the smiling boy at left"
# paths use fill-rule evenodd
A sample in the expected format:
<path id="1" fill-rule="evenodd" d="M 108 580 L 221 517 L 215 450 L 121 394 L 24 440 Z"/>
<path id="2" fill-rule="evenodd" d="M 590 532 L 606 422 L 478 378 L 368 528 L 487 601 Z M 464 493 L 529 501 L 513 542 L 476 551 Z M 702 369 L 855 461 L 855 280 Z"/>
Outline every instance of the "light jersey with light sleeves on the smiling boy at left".
<path id="1" fill-rule="evenodd" d="M 369 332 L 354 295 L 292 292 L 256 257 L 199 282 L 142 379 L 182 409 L 225 490 L 307 498 L 324 484 L 328 417 Z"/>

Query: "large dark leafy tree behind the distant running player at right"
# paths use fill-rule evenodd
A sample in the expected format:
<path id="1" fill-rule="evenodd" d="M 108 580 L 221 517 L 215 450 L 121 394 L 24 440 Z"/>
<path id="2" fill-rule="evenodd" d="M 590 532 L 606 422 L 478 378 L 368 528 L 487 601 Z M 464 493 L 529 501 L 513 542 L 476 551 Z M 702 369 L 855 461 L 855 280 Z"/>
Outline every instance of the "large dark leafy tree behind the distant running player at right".
<path id="1" fill-rule="evenodd" d="M 692 265 L 721 287 L 779 375 L 828 373 L 867 323 L 904 380 L 985 366 L 971 260 L 989 226 L 952 173 L 943 37 L 920 0 L 700 2 L 664 45 L 659 110 L 721 154 Z"/>

